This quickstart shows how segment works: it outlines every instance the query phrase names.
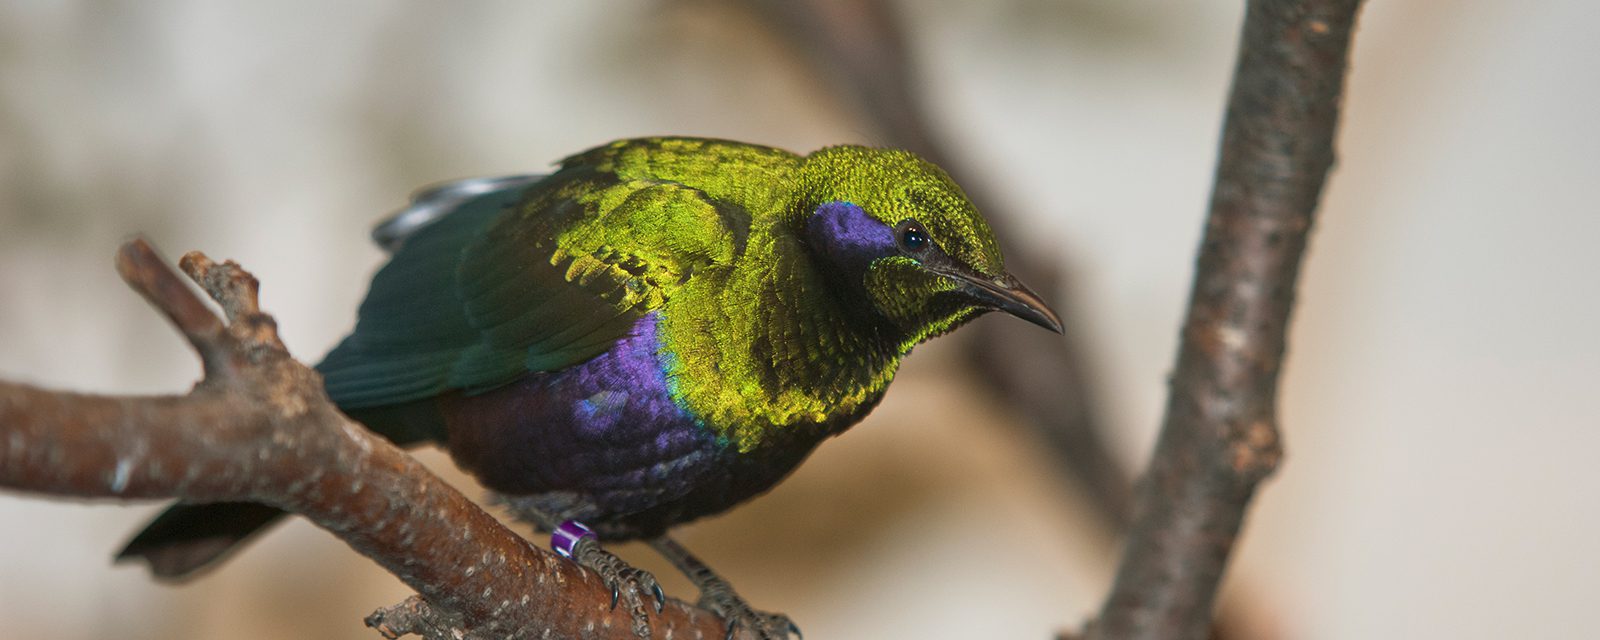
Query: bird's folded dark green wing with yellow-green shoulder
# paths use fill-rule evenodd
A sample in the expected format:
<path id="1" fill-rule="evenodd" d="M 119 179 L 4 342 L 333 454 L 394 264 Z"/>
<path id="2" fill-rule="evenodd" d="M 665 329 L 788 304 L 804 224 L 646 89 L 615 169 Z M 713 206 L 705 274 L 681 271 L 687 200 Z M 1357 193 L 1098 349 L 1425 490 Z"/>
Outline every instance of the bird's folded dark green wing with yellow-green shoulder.
<path id="1" fill-rule="evenodd" d="M 398 245 L 317 370 L 358 410 L 581 363 L 694 272 L 731 264 L 730 229 L 747 221 L 696 189 L 589 166 L 490 190 Z"/>

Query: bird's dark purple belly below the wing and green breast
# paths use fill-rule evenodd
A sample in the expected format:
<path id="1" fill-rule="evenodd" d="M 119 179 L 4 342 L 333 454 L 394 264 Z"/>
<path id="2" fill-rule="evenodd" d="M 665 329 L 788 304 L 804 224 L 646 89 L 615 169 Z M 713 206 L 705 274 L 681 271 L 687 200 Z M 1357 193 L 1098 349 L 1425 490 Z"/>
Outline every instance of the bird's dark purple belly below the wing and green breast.
<path id="1" fill-rule="evenodd" d="M 514 509 L 603 538 L 662 533 L 771 488 L 816 440 L 739 453 L 672 402 L 654 318 L 611 350 L 478 395 L 440 400 L 450 453 Z"/>

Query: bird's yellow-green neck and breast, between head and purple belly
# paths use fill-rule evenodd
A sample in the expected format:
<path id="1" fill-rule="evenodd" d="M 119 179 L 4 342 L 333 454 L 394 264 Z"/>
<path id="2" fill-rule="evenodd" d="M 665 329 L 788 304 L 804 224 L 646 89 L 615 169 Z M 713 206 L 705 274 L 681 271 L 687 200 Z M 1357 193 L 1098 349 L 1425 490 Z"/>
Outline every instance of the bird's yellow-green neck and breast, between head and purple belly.
<path id="1" fill-rule="evenodd" d="M 702 275 L 662 314 L 662 366 L 678 405 L 741 451 L 854 424 L 909 350 L 792 234 L 752 229 L 733 269 Z"/>

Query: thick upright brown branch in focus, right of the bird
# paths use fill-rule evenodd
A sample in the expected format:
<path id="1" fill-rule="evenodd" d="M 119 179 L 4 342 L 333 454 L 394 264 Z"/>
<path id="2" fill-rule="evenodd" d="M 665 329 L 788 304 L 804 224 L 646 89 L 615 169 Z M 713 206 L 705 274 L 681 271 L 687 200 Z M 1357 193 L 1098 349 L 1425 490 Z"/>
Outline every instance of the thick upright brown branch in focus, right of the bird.
<path id="1" fill-rule="evenodd" d="M 1206 635 L 1245 510 L 1282 456 L 1285 333 L 1358 5 L 1248 5 L 1166 418 L 1091 638 Z"/>

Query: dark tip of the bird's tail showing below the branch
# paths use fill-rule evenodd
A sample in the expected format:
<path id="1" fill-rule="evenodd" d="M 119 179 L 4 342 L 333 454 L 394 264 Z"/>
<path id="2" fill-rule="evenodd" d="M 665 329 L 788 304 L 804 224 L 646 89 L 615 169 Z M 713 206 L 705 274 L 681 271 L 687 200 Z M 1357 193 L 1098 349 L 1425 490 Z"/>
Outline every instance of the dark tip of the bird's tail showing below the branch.
<path id="1" fill-rule="evenodd" d="M 117 562 L 144 560 L 158 578 L 189 578 L 285 515 L 256 502 L 179 502 L 139 531 L 117 554 Z"/>

